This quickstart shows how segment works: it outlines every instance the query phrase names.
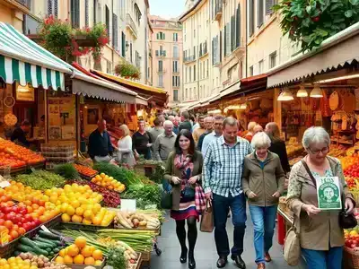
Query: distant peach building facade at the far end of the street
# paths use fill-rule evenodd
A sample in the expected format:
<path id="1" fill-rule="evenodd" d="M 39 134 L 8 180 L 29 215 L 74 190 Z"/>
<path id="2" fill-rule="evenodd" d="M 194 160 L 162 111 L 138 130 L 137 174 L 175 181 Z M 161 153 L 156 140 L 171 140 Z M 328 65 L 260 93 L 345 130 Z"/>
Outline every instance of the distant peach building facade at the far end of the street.
<path id="1" fill-rule="evenodd" d="M 169 93 L 169 106 L 180 101 L 182 80 L 182 25 L 177 20 L 151 16 L 153 86 Z"/>

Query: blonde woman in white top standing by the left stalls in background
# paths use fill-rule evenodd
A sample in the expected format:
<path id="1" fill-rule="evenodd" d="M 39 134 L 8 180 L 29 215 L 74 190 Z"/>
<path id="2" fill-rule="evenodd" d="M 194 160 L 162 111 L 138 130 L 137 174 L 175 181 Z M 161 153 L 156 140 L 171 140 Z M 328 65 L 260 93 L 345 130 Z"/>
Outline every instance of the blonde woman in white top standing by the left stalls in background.
<path id="1" fill-rule="evenodd" d="M 136 164 L 134 153 L 132 152 L 132 138 L 127 125 L 119 126 L 118 139 L 118 162 L 132 167 Z"/>

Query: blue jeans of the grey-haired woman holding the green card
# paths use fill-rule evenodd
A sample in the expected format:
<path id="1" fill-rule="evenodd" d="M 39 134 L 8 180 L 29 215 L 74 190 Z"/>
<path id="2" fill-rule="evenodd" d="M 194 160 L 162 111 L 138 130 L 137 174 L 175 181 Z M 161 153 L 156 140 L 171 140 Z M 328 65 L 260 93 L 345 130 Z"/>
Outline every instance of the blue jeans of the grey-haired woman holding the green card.
<path id="1" fill-rule="evenodd" d="M 308 269 L 342 268 L 343 247 L 329 247 L 327 251 L 302 248 L 302 255 Z"/>

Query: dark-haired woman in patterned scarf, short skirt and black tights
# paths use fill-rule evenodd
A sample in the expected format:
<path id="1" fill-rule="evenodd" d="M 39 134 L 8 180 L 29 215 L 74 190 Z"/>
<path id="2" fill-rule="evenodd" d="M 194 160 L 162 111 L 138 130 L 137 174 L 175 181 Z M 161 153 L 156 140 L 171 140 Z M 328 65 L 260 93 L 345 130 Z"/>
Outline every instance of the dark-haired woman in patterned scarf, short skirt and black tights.
<path id="1" fill-rule="evenodd" d="M 194 250 L 197 241 L 197 224 L 199 214 L 206 207 L 201 187 L 203 157 L 195 150 L 192 134 L 184 129 L 176 138 L 174 151 L 167 160 L 164 178 L 172 186 L 171 218 L 176 221 L 176 233 L 180 241 L 180 263 L 187 263 L 188 268 L 196 268 Z M 188 225 L 188 247 L 186 246 L 186 229 Z"/>

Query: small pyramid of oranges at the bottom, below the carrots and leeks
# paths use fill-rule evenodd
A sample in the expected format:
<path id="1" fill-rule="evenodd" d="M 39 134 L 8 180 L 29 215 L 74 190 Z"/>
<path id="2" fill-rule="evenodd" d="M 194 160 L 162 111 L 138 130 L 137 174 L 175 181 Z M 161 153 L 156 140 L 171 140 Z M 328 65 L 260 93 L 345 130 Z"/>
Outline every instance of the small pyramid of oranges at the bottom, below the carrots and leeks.
<path id="1" fill-rule="evenodd" d="M 102 265 L 104 256 L 100 249 L 87 245 L 84 237 L 74 239 L 74 244 L 60 250 L 55 259 L 57 264 L 65 265 Z"/>

